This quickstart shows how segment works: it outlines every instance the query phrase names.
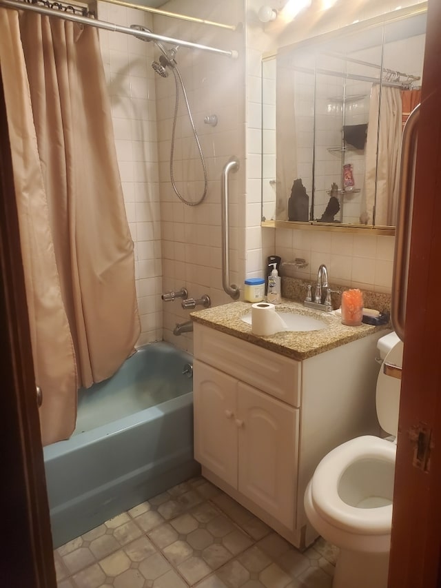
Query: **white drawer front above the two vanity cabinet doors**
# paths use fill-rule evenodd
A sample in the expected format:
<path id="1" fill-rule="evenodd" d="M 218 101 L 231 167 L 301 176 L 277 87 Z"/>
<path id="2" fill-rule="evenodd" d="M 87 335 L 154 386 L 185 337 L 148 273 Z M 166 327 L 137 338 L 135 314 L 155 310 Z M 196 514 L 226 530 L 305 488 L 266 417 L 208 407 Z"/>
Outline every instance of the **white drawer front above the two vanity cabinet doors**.
<path id="1" fill-rule="evenodd" d="M 194 323 L 194 356 L 291 406 L 300 406 L 300 361 L 198 323 Z"/>

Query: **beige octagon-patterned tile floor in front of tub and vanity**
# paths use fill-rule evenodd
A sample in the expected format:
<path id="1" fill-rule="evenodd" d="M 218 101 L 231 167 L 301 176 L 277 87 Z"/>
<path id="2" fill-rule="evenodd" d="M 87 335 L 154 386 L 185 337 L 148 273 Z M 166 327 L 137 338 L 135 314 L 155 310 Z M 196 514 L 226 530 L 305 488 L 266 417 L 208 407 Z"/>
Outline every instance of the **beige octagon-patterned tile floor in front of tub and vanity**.
<path id="1" fill-rule="evenodd" d="M 300 553 L 205 478 L 54 551 L 58 588 L 330 588 L 337 550 Z"/>

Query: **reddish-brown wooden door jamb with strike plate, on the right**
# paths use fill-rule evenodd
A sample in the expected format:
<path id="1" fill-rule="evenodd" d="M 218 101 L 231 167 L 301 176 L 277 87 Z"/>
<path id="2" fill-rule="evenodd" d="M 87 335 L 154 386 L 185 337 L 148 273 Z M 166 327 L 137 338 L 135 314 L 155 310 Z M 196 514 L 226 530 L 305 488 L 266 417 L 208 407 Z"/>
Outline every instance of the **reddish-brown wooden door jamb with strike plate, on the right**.
<path id="1" fill-rule="evenodd" d="M 441 2 L 429 0 L 400 424 L 390 588 L 440 586 L 441 547 Z M 415 427 L 431 429 L 427 471 L 414 465 Z"/>

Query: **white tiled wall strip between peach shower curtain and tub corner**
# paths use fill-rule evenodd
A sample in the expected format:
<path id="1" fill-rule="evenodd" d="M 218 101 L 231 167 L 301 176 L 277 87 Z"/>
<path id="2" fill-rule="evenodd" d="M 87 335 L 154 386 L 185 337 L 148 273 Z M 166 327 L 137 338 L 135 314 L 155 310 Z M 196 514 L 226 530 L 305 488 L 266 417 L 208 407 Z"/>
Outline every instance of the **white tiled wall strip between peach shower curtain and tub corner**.
<path id="1" fill-rule="evenodd" d="M 152 28 L 150 14 L 98 3 L 99 19 Z M 152 47 L 125 34 L 100 30 L 112 104 L 116 154 L 127 220 L 135 245 L 136 294 L 141 318 L 138 345 L 161 341 L 161 221 L 156 153 L 156 101 Z"/>

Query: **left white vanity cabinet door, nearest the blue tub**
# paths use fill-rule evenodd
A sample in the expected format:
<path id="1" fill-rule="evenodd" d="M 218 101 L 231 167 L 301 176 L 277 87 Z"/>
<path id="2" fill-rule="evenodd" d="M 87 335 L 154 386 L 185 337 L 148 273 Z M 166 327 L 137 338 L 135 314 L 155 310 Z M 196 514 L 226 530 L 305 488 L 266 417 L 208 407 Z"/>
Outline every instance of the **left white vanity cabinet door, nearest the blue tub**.
<path id="1" fill-rule="evenodd" d="M 193 368 L 194 458 L 237 488 L 237 381 L 198 360 Z"/>

